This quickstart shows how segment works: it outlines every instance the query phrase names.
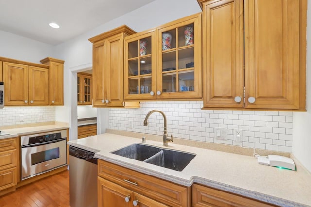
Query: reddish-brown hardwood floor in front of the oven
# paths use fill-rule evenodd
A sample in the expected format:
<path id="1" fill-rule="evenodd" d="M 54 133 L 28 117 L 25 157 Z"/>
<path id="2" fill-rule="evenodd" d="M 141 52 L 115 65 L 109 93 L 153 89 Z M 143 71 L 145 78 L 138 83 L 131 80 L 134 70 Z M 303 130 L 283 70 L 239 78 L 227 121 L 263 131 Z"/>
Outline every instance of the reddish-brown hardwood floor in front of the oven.
<path id="1" fill-rule="evenodd" d="M 0 196 L 0 207 L 70 207 L 69 170 Z"/>

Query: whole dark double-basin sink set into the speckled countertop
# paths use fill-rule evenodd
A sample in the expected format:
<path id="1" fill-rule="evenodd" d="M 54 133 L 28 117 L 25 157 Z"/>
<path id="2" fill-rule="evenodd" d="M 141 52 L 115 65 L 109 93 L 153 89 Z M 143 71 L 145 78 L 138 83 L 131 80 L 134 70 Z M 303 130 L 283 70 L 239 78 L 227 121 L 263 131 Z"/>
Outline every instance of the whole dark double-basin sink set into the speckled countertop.
<path id="1" fill-rule="evenodd" d="M 196 156 L 188 152 L 164 149 L 140 143 L 134 143 L 111 153 L 176 171 L 182 171 Z"/>

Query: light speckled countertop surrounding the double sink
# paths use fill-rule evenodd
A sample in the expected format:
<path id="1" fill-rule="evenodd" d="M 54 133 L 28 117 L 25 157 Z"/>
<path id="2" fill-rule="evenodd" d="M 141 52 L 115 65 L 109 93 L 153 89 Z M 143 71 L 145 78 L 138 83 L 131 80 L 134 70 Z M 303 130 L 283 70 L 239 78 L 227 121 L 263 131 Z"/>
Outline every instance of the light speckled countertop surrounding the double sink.
<path id="1" fill-rule="evenodd" d="M 116 134 L 101 134 L 69 141 L 69 145 L 121 166 L 184 186 L 201 183 L 279 206 L 311 206 L 311 174 L 294 159 L 297 171 L 260 165 L 252 156 L 220 152 L 152 140 L 144 144 L 195 153 L 196 157 L 181 172 L 110 153 L 141 139 Z"/>

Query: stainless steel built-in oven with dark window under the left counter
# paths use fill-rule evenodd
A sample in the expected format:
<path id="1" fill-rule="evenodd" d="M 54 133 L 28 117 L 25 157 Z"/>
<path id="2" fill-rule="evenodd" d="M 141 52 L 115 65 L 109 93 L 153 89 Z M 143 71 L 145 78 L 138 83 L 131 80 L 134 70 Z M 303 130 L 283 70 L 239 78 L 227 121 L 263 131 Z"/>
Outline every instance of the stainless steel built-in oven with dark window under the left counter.
<path id="1" fill-rule="evenodd" d="M 66 130 L 20 137 L 21 180 L 65 166 L 66 137 Z"/>

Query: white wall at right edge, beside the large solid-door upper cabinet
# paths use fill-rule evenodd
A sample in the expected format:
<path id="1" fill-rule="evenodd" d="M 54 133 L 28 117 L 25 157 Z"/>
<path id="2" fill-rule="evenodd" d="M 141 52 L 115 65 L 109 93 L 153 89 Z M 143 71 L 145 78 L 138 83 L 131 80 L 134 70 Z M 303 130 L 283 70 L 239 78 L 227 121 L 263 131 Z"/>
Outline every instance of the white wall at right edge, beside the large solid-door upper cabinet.
<path id="1" fill-rule="evenodd" d="M 308 0 L 308 3 L 310 1 Z M 293 114 L 293 154 L 311 172 L 311 5 L 307 10 L 307 112 Z"/>

